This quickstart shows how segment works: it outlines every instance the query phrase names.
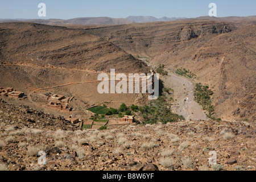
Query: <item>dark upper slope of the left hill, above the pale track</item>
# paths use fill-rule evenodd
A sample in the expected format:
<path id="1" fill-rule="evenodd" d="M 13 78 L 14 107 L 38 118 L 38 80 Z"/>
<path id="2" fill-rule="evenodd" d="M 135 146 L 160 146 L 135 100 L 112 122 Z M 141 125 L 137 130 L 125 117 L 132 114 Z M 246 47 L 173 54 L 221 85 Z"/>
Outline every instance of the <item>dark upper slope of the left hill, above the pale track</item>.
<path id="1" fill-rule="evenodd" d="M 115 68 L 126 73 L 148 72 L 142 61 L 82 29 L 34 23 L 2 23 L 0 28 L 2 61 L 94 71 L 109 72 Z"/>

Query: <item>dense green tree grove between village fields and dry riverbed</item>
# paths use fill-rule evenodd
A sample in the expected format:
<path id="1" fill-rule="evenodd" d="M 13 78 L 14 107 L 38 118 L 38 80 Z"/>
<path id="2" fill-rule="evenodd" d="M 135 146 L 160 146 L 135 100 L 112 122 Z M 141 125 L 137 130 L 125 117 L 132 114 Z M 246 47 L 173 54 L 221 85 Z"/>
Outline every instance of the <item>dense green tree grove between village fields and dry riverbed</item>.
<path id="1" fill-rule="evenodd" d="M 158 100 L 151 101 L 150 105 L 139 107 L 139 111 L 141 111 L 144 118 L 143 124 L 177 122 L 185 119 L 182 115 L 172 113 L 164 96 L 159 96 Z"/>

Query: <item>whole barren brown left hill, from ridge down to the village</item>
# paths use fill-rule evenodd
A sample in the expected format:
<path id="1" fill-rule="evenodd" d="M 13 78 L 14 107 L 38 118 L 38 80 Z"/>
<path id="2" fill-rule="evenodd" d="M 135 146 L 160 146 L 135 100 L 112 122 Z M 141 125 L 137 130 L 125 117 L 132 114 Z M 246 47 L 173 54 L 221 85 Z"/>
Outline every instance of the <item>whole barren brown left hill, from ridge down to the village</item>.
<path id="1" fill-rule="evenodd" d="M 99 73 L 110 73 L 110 69 L 116 73 L 150 72 L 143 61 L 83 29 L 1 23 L 0 52 L 0 62 L 7 64 L 0 67 L 1 86 L 13 87 L 25 94 L 55 86 L 49 91 L 75 96 L 79 101 L 77 107 L 81 108 L 112 101 L 113 105 L 132 104 L 143 98 L 134 94 L 99 94 Z M 64 84 L 66 86 L 61 86 Z M 34 96 L 33 100 L 38 97 Z"/>

